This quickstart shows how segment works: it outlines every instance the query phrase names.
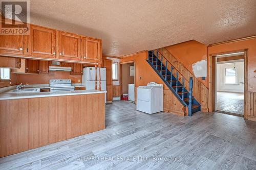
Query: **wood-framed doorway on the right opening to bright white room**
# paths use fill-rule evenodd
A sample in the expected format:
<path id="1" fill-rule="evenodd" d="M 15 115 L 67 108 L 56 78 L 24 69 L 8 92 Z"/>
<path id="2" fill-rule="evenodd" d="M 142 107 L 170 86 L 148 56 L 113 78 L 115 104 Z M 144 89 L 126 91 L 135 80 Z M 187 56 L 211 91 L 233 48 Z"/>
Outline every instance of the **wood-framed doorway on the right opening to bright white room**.
<path id="1" fill-rule="evenodd" d="M 247 50 L 209 56 L 209 110 L 245 117 Z"/>

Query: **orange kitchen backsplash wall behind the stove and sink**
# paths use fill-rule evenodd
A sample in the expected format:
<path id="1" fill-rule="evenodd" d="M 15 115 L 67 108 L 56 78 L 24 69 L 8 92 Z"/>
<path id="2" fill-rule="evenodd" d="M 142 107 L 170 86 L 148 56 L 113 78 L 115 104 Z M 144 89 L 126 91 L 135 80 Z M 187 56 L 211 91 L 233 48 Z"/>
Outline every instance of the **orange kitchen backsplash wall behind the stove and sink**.
<path id="1" fill-rule="evenodd" d="M 71 79 L 72 83 L 81 83 L 81 75 L 70 75 L 70 72 L 49 71 L 49 74 L 17 75 L 17 84 L 49 84 L 49 79 Z"/>

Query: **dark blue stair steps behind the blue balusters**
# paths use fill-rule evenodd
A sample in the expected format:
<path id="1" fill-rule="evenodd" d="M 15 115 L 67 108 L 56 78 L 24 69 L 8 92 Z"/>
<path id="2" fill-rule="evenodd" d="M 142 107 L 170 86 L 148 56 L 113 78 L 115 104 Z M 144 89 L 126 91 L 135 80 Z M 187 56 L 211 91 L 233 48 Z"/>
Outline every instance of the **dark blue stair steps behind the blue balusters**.
<path id="1" fill-rule="evenodd" d="M 157 55 L 159 55 L 158 52 L 157 52 Z M 175 77 L 172 74 L 172 70 L 169 70 L 168 68 L 166 68 L 165 67 L 166 64 L 164 65 L 161 62 L 161 60 L 157 58 L 155 54 L 153 55 L 152 51 L 148 51 L 148 58 L 146 61 L 148 62 L 148 64 L 151 65 L 151 67 L 155 70 L 158 76 L 164 81 L 164 83 L 168 86 L 168 88 L 177 96 L 177 98 L 183 104 L 183 106 L 191 107 L 190 108 L 191 111 L 188 111 L 189 116 L 201 110 L 201 106 L 197 102 L 197 100 L 194 98 L 194 96 L 191 96 L 191 105 L 189 106 L 189 89 L 186 89 L 184 87 L 184 78 L 183 78 L 183 82 L 177 81 L 176 77 L 179 76 L 178 72 L 176 72 L 177 75 Z M 167 61 L 165 62 L 167 63 Z M 170 64 L 168 63 L 168 65 Z M 190 83 L 192 85 L 193 81 L 191 80 Z"/>

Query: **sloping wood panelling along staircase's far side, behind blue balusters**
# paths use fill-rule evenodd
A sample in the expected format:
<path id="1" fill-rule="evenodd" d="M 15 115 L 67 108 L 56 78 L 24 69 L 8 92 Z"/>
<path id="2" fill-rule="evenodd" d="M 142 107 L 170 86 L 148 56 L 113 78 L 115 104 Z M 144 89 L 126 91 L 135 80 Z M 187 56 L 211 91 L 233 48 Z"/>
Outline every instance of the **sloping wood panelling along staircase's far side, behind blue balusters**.
<path id="1" fill-rule="evenodd" d="M 185 66 L 182 65 L 172 54 L 170 54 L 165 48 L 159 48 L 158 51 L 175 67 L 179 70 L 180 74 L 187 80 L 185 81 L 185 88 L 188 87 L 188 80 L 193 78 L 193 96 L 200 103 L 202 111 L 208 112 L 208 88 L 200 82 Z M 165 64 L 165 63 L 164 63 Z M 168 65 L 168 68 L 170 65 Z M 174 69 L 174 75 L 176 70 Z M 182 82 L 182 78 L 179 81 Z"/>

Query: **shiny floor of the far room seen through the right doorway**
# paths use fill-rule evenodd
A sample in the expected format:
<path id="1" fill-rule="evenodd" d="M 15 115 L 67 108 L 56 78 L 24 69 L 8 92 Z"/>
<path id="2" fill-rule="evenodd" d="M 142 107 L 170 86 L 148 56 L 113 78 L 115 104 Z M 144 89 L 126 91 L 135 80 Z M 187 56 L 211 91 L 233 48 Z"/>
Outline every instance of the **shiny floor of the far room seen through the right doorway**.
<path id="1" fill-rule="evenodd" d="M 217 110 L 244 114 L 244 93 L 217 92 Z"/>

